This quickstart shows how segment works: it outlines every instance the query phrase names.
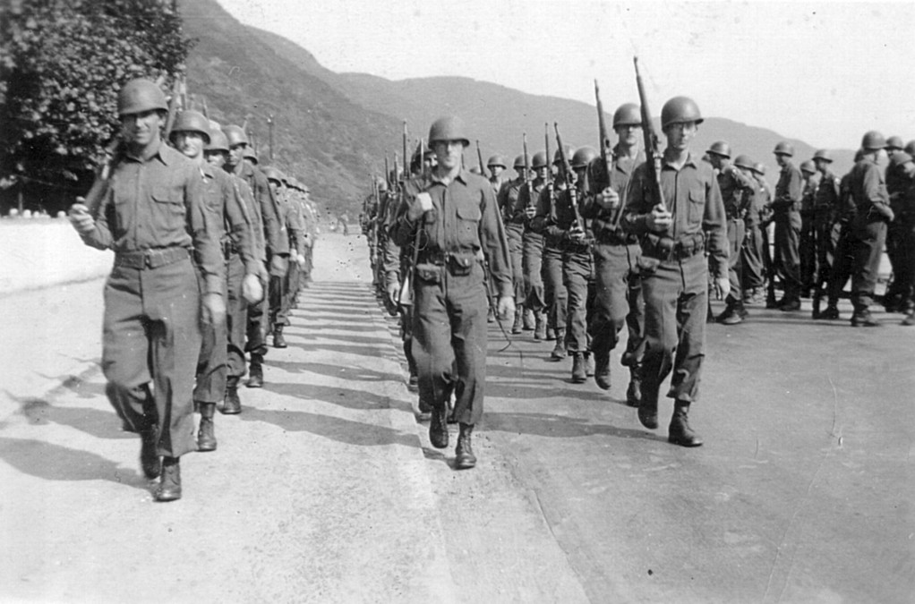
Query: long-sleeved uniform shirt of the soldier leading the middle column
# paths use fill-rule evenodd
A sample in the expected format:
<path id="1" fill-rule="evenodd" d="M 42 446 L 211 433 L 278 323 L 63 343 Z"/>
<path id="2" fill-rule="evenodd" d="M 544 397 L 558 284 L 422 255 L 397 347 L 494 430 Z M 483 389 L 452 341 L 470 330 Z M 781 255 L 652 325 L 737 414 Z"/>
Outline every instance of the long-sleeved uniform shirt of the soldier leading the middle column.
<path id="1" fill-rule="evenodd" d="M 489 181 L 461 168 L 451 182 L 433 174 L 425 192 L 432 210 L 420 219 L 420 245 L 425 253 L 480 253 L 490 264 L 493 285 L 503 297 L 513 295 L 509 243 Z M 407 218 L 408 200 L 401 202 L 391 234 L 400 246 L 412 242 L 414 224 Z"/>

